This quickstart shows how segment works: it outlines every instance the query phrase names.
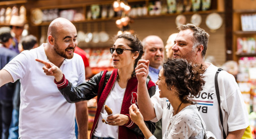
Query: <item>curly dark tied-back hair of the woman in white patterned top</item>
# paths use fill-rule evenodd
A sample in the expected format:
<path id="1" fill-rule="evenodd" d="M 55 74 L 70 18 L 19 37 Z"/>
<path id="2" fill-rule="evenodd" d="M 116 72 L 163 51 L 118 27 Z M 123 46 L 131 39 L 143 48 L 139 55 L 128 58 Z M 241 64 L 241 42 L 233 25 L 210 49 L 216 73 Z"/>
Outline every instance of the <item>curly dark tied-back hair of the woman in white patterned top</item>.
<path id="1" fill-rule="evenodd" d="M 184 103 L 193 104 L 188 98 L 189 94 L 196 96 L 203 90 L 205 81 L 203 65 L 188 63 L 184 59 L 167 59 L 163 64 L 163 74 L 169 90 L 174 86 L 179 99 Z"/>

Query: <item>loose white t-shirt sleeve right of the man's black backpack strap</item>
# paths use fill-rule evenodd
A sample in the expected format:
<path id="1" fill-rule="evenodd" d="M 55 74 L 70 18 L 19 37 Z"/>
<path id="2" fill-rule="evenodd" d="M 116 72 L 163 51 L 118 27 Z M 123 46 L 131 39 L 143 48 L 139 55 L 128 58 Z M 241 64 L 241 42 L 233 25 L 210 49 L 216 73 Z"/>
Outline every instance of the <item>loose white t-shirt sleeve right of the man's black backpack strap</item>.
<path id="1" fill-rule="evenodd" d="M 228 131 L 235 131 L 249 125 L 248 112 L 234 76 L 225 72 L 220 72 L 218 76 L 220 92 L 223 91 L 226 95 L 226 100 L 221 100 L 223 102 L 221 106 L 227 112 Z M 221 76 L 221 74 L 226 75 Z"/>

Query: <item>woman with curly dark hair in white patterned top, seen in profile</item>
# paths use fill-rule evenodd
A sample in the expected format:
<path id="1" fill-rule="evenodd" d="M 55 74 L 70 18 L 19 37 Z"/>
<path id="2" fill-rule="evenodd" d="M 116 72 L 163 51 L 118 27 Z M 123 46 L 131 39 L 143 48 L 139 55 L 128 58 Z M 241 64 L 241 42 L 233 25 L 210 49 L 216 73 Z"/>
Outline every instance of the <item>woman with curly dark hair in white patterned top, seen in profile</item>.
<path id="1" fill-rule="evenodd" d="M 139 62 L 140 63 L 140 62 Z M 145 66 L 149 66 L 146 63 Z M 205 81 L 203 65 L 191 65 L 184 59 L 167 59 L 160 70 L 156 84 L 160 90 L 160 98 L 166 97 L 173 106 L 167 122 L 167 130 L 163 138 L 204 138 L 204 121 L 190 95 L 198 95 L 203 90 Z M 136 71 L 140 82 L 146 82 L 145 69 Z M 145 84 L 146 85 L 146 84 Z M 146 87 L 146 86 L 140 87 Z M 130 116 L 142 130 L 146 138 L 156 138 L 149 132 L 143 121 L 143 116 L 136 105 L 130 107 Z M 204 124 L 203 125 L 201 124 Z"/>

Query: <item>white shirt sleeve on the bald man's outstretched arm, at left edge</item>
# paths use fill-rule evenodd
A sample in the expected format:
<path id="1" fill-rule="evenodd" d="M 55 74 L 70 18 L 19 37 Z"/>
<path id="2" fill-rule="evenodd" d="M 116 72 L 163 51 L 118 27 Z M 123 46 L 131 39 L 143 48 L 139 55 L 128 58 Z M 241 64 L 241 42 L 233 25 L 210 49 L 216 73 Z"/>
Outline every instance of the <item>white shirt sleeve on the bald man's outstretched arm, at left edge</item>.
<path id="1" fill-rule="evenodd" d="M 18 79 L 22 79 L 26 74 L 26 69 L 28 69 L 28 51 L 23 51 L 21 54 L 17 55 L 12 59 L 3 69 L 7 70 L 13 77 L 14 82 Z"/>

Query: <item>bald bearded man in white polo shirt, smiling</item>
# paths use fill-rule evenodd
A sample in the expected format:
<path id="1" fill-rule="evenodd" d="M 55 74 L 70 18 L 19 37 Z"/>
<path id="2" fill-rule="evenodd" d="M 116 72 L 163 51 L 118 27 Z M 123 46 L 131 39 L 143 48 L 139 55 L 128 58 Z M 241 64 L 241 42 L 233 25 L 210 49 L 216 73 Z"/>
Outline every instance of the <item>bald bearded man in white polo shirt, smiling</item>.
<path id="1" fill-rule="evenodd" d="M 45 76 L 43 64 L 35 61 L 53 63 L 75 85 L 84 82 L 83 60 L 74 54 L 78 44 L 76 27 L 67 19 L 57 18 L 49 25 L 47 36 L 46 44 L 23 51 L 0 71 L 0 86 L 18 79 L 21 82 L 19 138 L 75 139 L 75 115 L 79 137 L 87 138 L 86 105 L 68 103 L 54 78 Z"/>

